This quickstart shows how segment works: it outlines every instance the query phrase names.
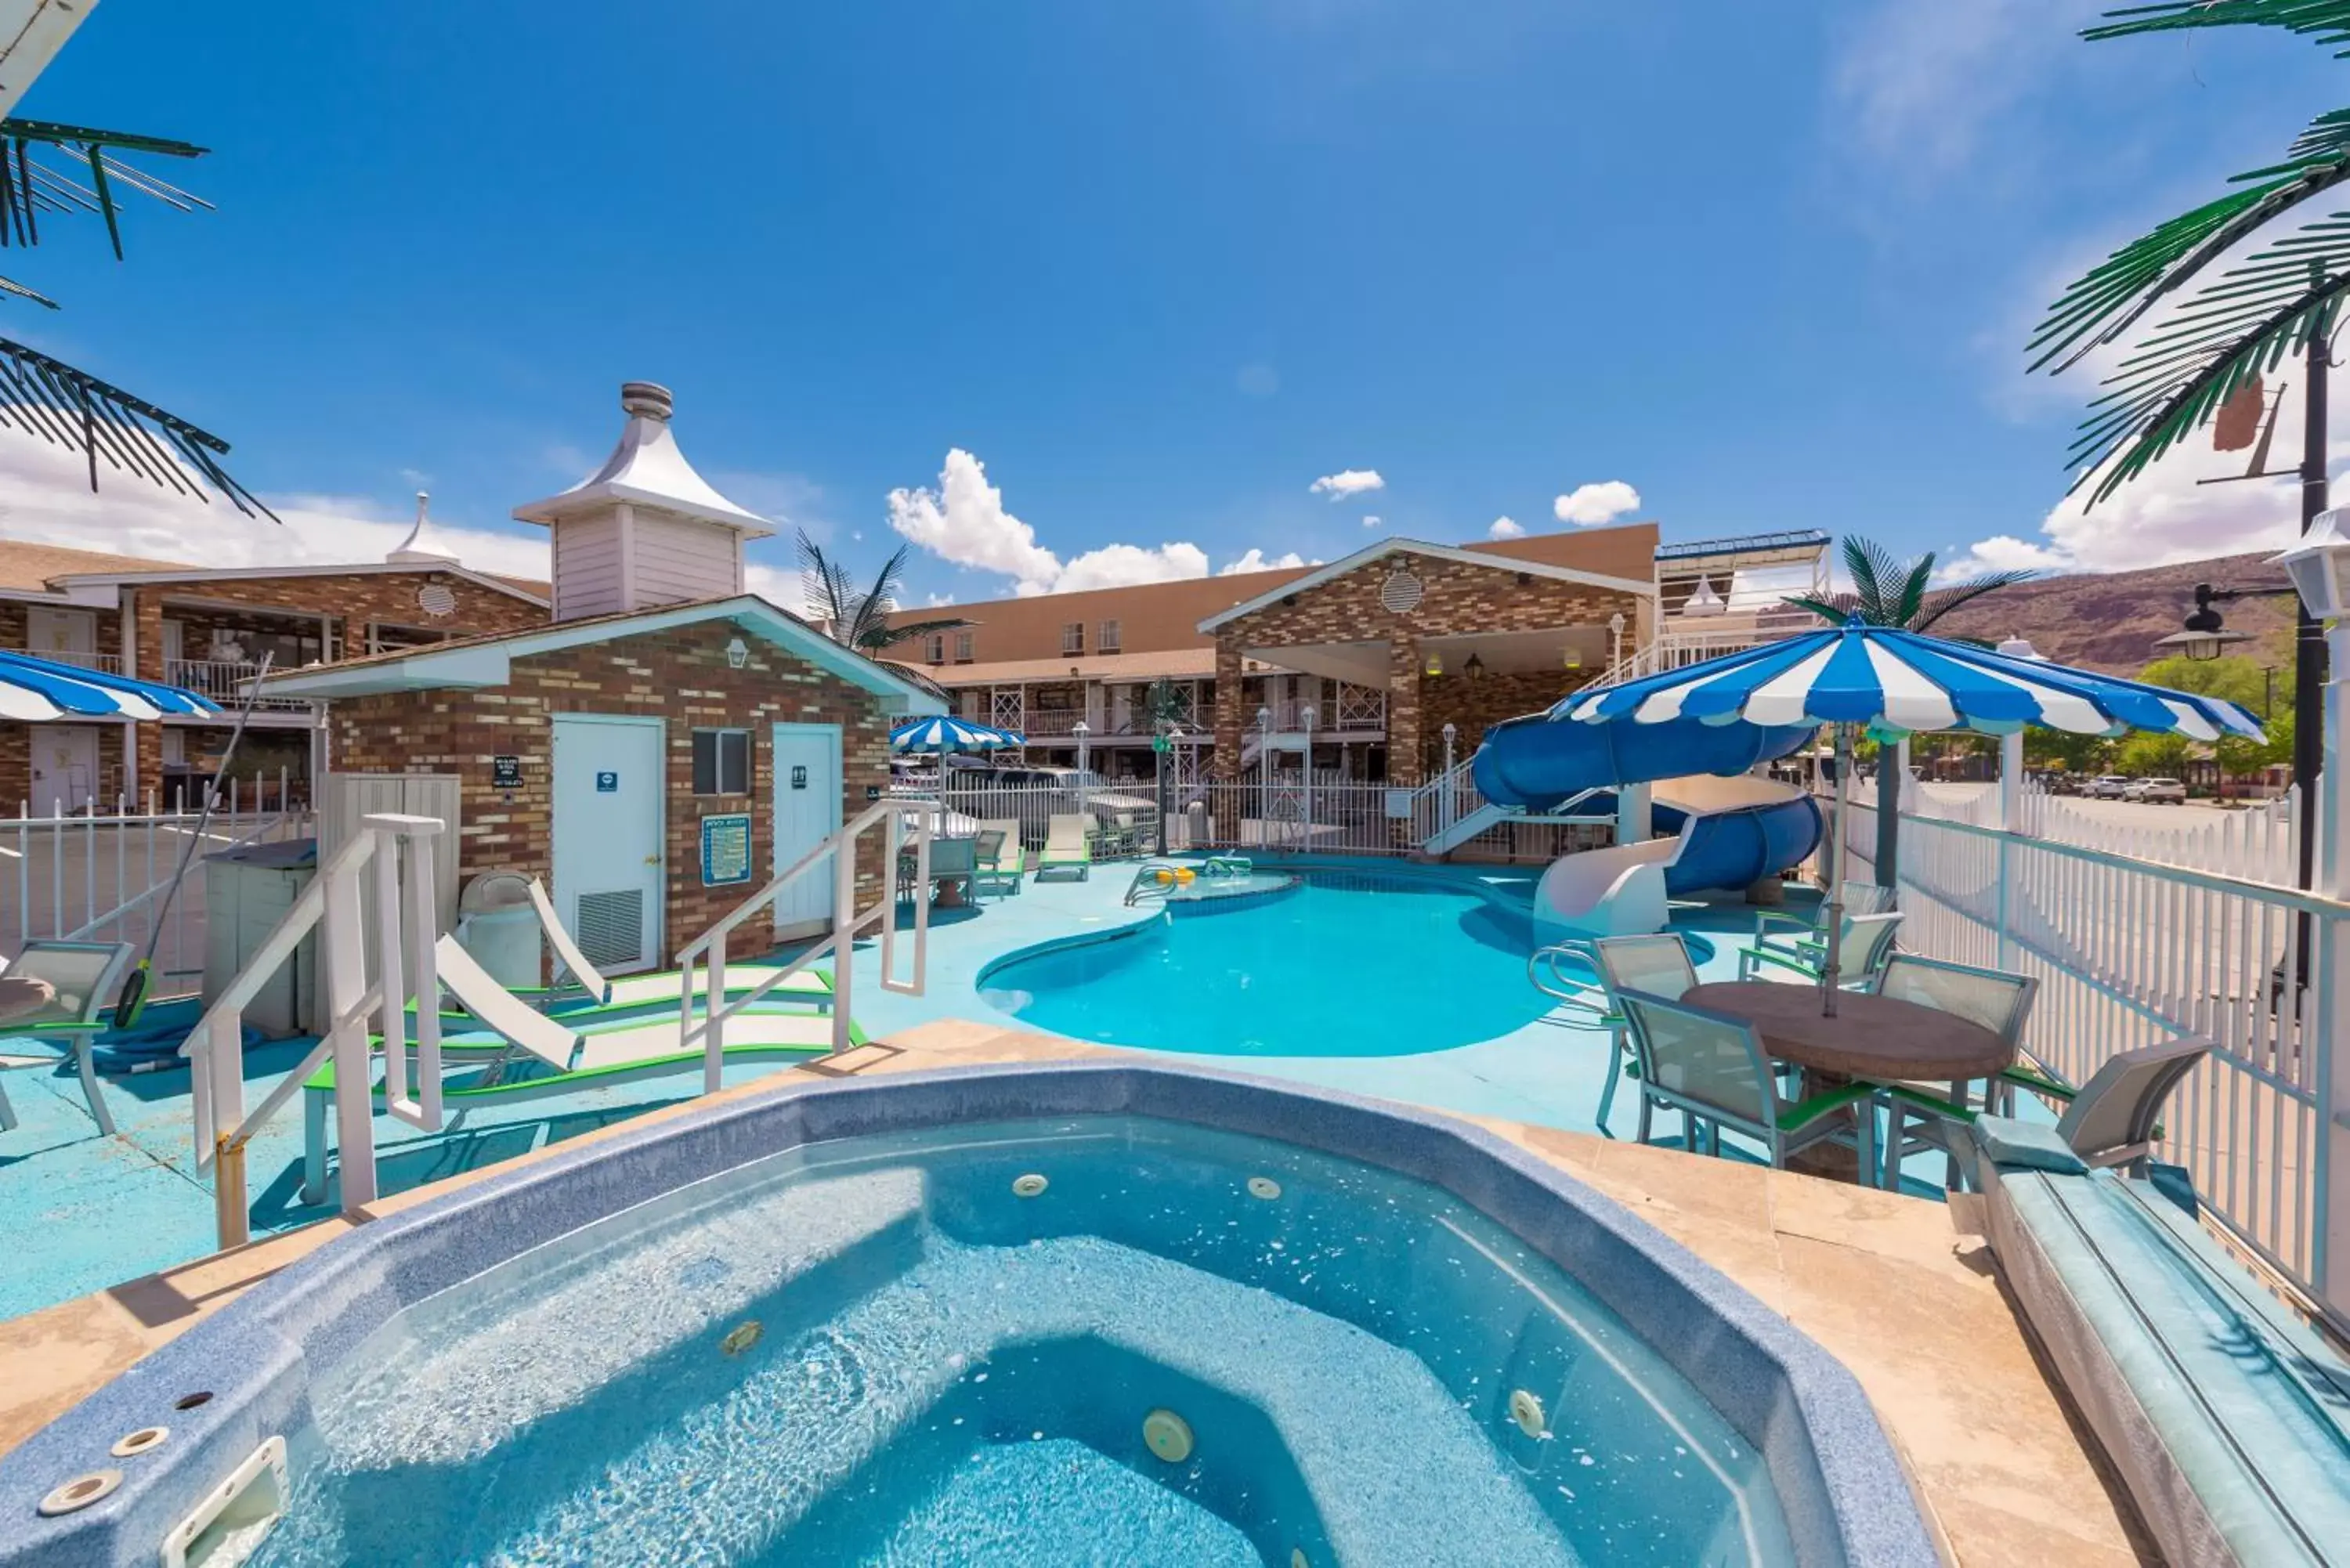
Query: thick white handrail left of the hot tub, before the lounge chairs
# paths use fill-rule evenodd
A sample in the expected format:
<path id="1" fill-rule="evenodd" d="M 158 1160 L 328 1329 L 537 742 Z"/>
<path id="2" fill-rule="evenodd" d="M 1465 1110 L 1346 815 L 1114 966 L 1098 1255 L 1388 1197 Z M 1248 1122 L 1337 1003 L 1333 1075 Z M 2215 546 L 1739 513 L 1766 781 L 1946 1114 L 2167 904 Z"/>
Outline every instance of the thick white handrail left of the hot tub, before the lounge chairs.
<path id="1" fill-rule="evenodd" d="M 244 1150 L 303 1079 L 334 1058 L 336 1143 L 343 1150 L 343 1213 L 376 1199 L 376 1121 L 369 1018 L 383 1037 L 383 1107 L 425 1133 L 442 1124 L 439 978 L 432 957 L 435 886 L 430 839 L 442 832 L 430 816 L 367 816 L 360 832 L 317 867 L 254 957 L 181 1044 L 195 1110 L 195 1168 L 212 1171 L 214 1222 L 221 1248 L 249 1234 Z M 407 853 L 402 853 L 407 842 Z M 404 865 L 402 865 L 404 860 Z M 404 872 L 404 877 L 402 877 Z M 407 898 L 402 898 L 402 886 Z M 362 914 L 374 900 L 376 980 L 367 983 Z M 308 1056 L 244 1110 L 244 1006 L 261 994 L 310 931 L 320 931 L 320 980 L 327 1032 Z M 409 978 L 414 994 L 414 1056 L 409 1046 Z M 414 1072 L 414 1079 L 409 1077 Z"/>

